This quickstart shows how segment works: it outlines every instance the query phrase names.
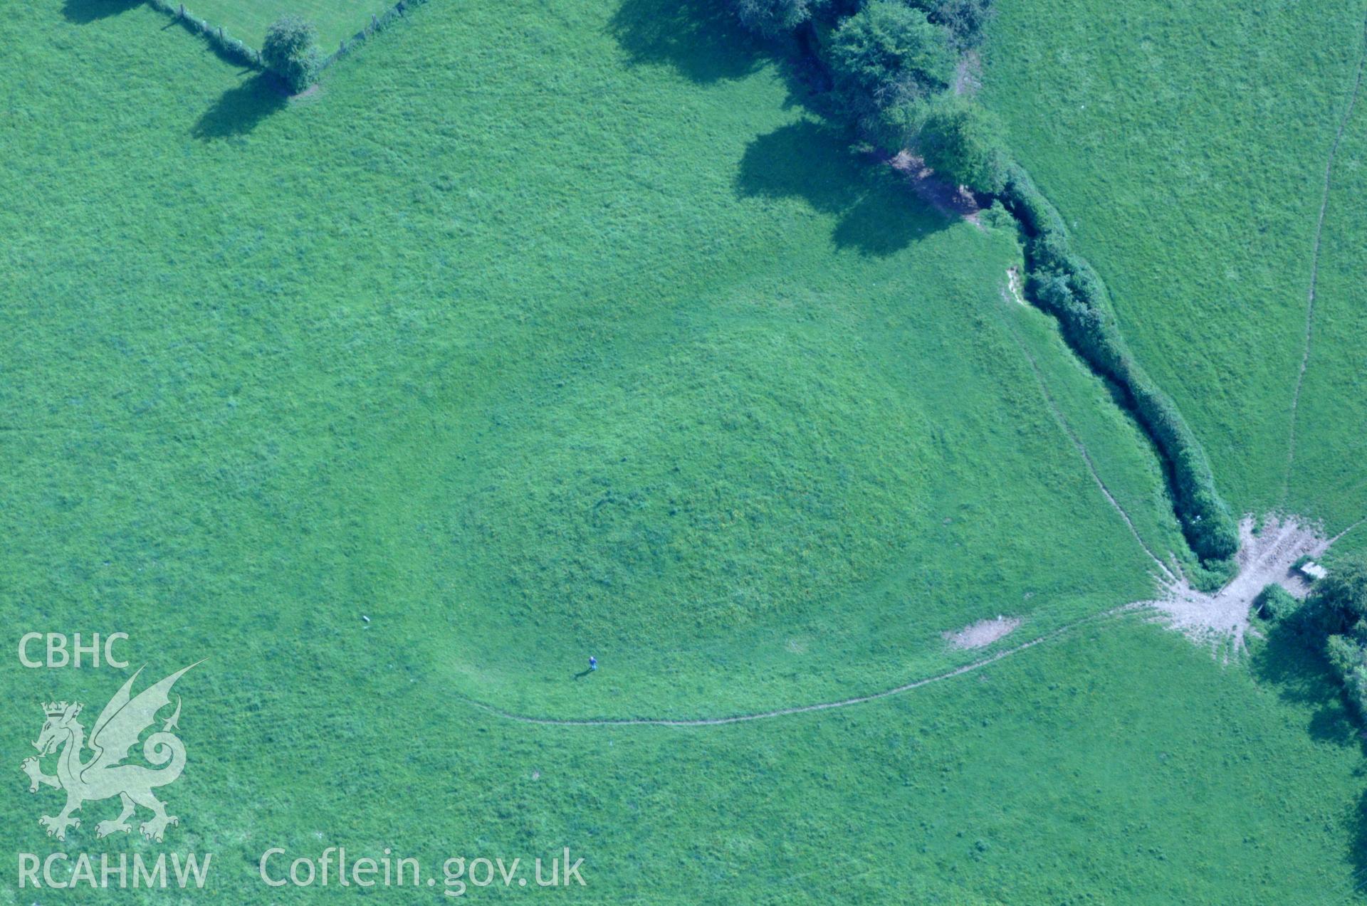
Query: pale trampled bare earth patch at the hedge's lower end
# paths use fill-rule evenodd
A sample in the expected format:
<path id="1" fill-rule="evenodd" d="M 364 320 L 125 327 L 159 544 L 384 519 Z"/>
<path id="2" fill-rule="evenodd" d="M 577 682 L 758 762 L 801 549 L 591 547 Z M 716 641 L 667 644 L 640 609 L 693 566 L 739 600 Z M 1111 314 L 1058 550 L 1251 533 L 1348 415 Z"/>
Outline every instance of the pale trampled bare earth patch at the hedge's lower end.
<path id="1" fill-rule="evenodd" d="M 1292 570 L 1301 556 L 1319 556 L 1329 541 L 1295 517 L 1269 518 L 1262 533 L 1254 534 L 1254 521 L 1239 523 L 1239 575 L 1214 594 L 1191 588 L 1185 579 L 1167 586 L 1158 601 L 1150 601 L 1163 614 L 1163 622 L 1181 630 L 1192 641 L 1219 645 L 1233 641 L 1243 650 L 1248 633 L 1248 609 L 1264 585 L 1275 582 L 1303 599 L 1310 592 L 1304 579 Z"/>

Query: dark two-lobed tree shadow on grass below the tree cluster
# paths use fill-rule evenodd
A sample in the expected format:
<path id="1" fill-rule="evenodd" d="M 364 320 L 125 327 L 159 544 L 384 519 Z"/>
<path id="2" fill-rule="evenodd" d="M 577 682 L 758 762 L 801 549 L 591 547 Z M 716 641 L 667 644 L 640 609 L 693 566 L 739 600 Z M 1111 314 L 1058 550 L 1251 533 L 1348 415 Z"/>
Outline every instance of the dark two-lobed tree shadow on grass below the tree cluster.
<path id="1" fill-rule="evenodd" d="M 741 198 L 801 198 L 838 215 L 839 249 L 887 256 L 953 223 L 923 201 L 908 179 L 856 153 L 853 137 L 813 120 L 782 126 L 749 143 L 735 175 Z"/>

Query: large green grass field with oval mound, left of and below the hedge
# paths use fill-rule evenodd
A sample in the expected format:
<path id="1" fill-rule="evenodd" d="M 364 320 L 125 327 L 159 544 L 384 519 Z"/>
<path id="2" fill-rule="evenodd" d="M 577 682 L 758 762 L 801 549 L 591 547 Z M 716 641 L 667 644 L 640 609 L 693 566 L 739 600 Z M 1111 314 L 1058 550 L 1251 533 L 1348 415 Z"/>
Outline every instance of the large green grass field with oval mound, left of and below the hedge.
<path id="1" fill-rule="evenodd" d="M 994 59 L 1025 12 L 1003 5 Z M 906 694 L 718 727 L 480 708 L 869 694 L 1151 594 L 1146 547 L 1188 555 L 1148 444 L 1009 301 L 1014 235 L 854 156 L 716 8 L 435 0 L 295 101 L 161 26 L 55 0 L 0 20 L 0 619 L 11 642 L 126 631 L 153 678 L 209 657 L 178 686 L 167 843 L 94 840 L 104 802 L 60 846 L 212 851 L 232 903 L 354 896 L 256 876 L 271 846 L 336 845 L 428 870 L 569 846 L 588 887 L 562 898 L 585 903 L 1355 895 L 1360 743 L 1277 633 L 1222 665 L 1102 619 Z M 1326 97 L 1349 56 L 1323 61 Z M 1336 198 L 1362 176 L 1355 123 Z M 1061 152 L 1036 153 L 1073 217 Z M 1321 338 L 1348 355 L 1359 213 L 1334 212 Z M 1115 262 L 1161 266 L 1152 249 L 1084 249 L 1137 318 Z M 1126 322 L 1166 381 L 1161 327 Z M 1352 450 L 1308 409 L 1344 395 L 1333 354 L 1305 377 L 1315 476 Z M 1248 454 L 1255 477 L 1213 451 L 1217 477 L 1266 500 L 1278 450 Z M 995 648 L 940 638 L 999 614 L 1025 622 Z M 57 793 L 18 771 L 33 702 L 93 719 L 123 678 L 0 659 L 0 849 L 59 846 L 37 824 Z M 0 902 L 37 899 L 12 880 Z M 120 899 L 165 902 L 141 896 Z"/>

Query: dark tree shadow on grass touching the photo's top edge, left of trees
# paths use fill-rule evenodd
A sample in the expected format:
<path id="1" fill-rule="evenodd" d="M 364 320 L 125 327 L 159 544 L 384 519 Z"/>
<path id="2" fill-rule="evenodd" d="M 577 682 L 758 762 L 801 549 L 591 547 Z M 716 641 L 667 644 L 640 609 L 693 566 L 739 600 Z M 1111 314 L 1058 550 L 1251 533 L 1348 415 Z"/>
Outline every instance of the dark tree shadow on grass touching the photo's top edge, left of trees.
<path id="1" fill-rule="evenodd" d="M 632 63 L 668 64 L 694 82 L 742 78 L 763 57 L 727 0 L 623 0 L 608 30 Z"/>

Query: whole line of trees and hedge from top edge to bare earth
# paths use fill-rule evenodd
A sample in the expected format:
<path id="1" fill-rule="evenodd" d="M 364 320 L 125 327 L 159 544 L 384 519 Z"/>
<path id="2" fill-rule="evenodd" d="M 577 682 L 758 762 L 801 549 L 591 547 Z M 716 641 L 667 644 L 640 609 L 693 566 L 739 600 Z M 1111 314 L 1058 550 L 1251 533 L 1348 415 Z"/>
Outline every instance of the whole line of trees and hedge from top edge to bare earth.
<path id="1" fill-rule="evenodd" d="M 1206 451 L 1167 394 L 1125 344 L 1092 266 L 1020 164 L 1009 163 L 1001 128 L 971 98 L 950 90 L 953 49 L 980 40 L 988 0 L 733 0 L 740 20 L 761 34 L 820 29 L 804 41 L 831 74 L 841 109 L 884 149 L 920 152 L 935 171 L 980 195 L 999 198 L 1025 235 L 1028 295 L 1058 317 L 1065 338 L 1117 384 L 1163 456 L 1174 510 L 1192 549 L 1222 560 L 1239 549 L 1239 525 L 1215 488 Z"/>

